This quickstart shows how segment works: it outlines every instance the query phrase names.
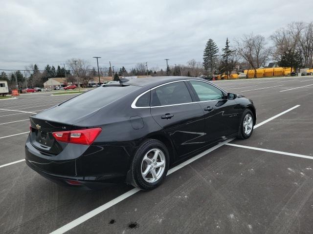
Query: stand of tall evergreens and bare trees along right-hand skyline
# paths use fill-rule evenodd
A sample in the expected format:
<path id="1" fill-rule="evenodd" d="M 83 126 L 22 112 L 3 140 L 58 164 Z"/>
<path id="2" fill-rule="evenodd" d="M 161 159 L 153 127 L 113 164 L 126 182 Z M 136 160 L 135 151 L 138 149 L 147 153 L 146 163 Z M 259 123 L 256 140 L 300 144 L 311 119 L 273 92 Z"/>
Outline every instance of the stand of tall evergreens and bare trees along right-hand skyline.
<path id="1" fill-rule="evenodd" d="M 262 35 L 243 35 L 230 46 L 228 38 L 223 54 L 213 39 L 208 39 L 203 52 L 203 67 L 206 74 L 226 74 L 241 65 L 247 70 L 265 67 L 268 61 L 278 62 L 281 67 L 313 67 L 313 21 L 292 22 L 276 30 L 270 37 L 271 45 Z"/>

